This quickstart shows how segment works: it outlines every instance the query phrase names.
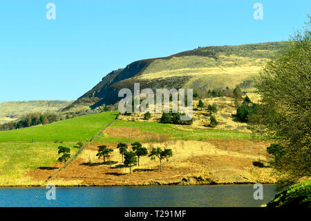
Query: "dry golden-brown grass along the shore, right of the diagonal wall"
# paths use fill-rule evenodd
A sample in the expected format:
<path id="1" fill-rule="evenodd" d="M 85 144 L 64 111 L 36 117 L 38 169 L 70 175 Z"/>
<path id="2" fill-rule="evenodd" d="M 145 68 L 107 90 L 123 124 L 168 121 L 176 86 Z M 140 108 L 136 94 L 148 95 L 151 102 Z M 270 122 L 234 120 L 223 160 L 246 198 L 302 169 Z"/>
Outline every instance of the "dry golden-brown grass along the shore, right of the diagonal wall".
<path id="1" fill-rule="evenodd" d="M 97 145 L 88 145 L 73 163 L 49 182 L 59 186 L 178 184 L 183 178 L 191 180 L 188 184 L 275 182 L 275 177 L 271 175 L 272 168 L 258 168 L 252 164 L 254 161 L 265 163 L 267 160 L 264 154 L 267 143 L 263 141 L 143 143 L 148 150 L 157 147 L 171 148 L 173 157 L 169 161 L 162 161 L 162 173 L 158 159 L 141 157 L 140 166 L 133 166 L 132 171 L 135 172 L 131 175 L 129 168 L 122 164 L 121 155 L 114 144 L 109 146 L 114 151 L 111 157 L 106 159 L 107 163 L 102 163 L 102 159 L 95 156 Z M 49 173 L 52 172 L 50 170 Z M 48 173 L 46 170 L 37 169 L 30 173 L 29 177 L 39 182 L 48 177 Z"/>

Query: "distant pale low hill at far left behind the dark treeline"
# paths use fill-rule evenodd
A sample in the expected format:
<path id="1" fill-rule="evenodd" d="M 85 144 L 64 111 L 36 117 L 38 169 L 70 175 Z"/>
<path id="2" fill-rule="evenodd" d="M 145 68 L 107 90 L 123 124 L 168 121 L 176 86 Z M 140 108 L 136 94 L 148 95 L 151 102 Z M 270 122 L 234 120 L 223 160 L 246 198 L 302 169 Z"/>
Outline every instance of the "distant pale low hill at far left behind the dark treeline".
<path id="1" fill-rule="evenodd" d="M 15 121 L 32 112 L 58 112 L 73 103 L 72 100 L 29 100 L 0 103 L 0 124 Z"/>

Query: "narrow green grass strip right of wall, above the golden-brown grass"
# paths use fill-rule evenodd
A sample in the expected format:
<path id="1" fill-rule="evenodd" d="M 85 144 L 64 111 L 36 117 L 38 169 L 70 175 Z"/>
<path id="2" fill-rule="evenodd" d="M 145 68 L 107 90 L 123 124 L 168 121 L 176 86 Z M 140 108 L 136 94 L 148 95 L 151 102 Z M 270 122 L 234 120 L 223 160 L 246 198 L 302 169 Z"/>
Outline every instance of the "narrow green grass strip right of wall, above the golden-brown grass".
<path id="1" fill-rule="evenodd" d="M 211 139 L 254 139 L 259 136 L 245 132 L 230 130 L 196 129 L 191 126 L 178 126 L 156 122 L 133 122 L 117 120 L 111 127 L 98 137 L 97 142 L 113 141 L 167 141 L 194 140 L 207 141 Z"/>

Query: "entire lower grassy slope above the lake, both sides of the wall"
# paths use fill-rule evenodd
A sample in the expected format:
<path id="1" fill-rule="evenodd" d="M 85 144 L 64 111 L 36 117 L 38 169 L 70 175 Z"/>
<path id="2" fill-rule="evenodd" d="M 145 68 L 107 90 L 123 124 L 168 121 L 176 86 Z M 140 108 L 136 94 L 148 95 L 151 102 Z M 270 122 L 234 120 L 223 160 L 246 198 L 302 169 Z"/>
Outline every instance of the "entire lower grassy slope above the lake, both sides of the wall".
<path id="1" fill-rule="evenodd" d="M 59 145 L 70 148 L 73 157 L 78 150 L 77 141 L 85 144 L 107 125 L 49 182 L 59 186 L 275 182 L 265 154 L 269 141 L 260 136 L 189 125 L 114 121 L 116 115 L 117 112 L 89 114 L 0 132 L 0 186 L 44 186 L 46 179 L 64 166 L 57 162 Z M 131 146 L 135 141 L 142 142 L 149 152 L 153 147 L 171 148 L 173 157 L 163 162 L 163 172 L 158 161 L 144 157 L 129 174 L 116 146 L 119 142 Z M 106 163 L 96 156 L 99 145 L 113 149 Z"/>

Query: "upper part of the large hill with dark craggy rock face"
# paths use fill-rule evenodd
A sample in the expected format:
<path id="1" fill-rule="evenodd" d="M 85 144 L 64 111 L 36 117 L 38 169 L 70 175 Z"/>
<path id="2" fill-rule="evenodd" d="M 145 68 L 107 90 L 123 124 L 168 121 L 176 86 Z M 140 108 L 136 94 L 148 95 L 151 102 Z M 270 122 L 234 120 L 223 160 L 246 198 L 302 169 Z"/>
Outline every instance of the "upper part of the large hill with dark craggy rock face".
<path id="1" fill-rule="evenodd" d="M 201 97 L 205 97 L 209 89 L 234 88 L 240 84 L 252 87 L 254 76 L 279 52 L 282 44 L 198 47 L 164 58 L 139 60 L 124 69 L 111 71 L 64 111 L 113 105 L 120 100 L 118 91 L 133 89 L 134 82 L 140 83 L 140 89 L 193 88 Z"/>

